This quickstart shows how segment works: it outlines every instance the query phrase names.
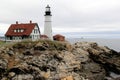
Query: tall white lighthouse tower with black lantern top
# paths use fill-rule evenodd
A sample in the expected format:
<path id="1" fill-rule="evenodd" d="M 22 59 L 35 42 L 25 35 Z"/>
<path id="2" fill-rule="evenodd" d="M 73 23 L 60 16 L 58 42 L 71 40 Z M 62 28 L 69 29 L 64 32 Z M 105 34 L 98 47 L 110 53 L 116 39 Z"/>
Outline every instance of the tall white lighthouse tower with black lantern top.
<path id="1" fill-rule="evenodd" d="M 46 11 L 45 11 L 44 35 L 47 35 L 47 37 L 50 40 L 53 40 L 51 17 L 52 15 L 51 15 L 50 7 L 49 5 L 47 5 Z"/>

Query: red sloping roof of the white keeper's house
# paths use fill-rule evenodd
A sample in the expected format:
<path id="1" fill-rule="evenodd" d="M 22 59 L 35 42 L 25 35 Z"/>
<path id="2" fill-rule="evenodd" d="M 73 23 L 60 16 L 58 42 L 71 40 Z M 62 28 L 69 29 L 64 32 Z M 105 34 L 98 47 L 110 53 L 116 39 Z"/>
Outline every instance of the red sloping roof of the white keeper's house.
<path id="1" fill-rule="evenodd" d="M 11 24 L 5 36 L 29 36 L 37 23 L 25 23 L 25 24 Z M 39 27 L 38 27 L 39 28 Z M 23 32 L 15 32 L 14 30 L 22 29 Z"/>

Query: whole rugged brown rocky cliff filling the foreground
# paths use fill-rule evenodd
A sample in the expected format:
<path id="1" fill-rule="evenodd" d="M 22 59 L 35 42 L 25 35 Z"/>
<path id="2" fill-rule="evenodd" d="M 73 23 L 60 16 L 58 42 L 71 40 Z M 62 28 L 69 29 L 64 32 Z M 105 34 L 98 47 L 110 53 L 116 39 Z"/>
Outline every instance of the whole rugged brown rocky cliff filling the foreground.
<path id="1" fill-rule="evenodd" d="M 110 72 L 120 74 L 120 54 L 94 42 L 23 41 L 0 48 L 0 80 L 108 80 Z"/>

